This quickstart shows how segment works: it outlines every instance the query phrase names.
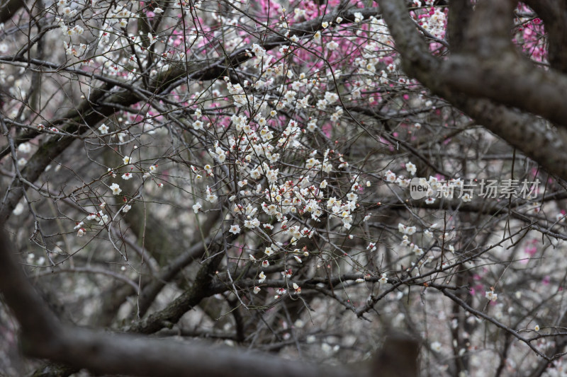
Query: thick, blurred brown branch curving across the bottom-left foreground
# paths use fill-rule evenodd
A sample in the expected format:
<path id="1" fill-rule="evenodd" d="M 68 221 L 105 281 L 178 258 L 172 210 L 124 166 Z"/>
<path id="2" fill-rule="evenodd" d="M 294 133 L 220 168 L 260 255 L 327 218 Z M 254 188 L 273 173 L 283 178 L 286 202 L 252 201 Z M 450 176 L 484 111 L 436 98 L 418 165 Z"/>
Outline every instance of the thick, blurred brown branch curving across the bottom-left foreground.
<path id="1" fill-rule="evenodd" d="M 4 226 L 4 224 L 1 224 Z M 200 344 L 110 334 L 62 325 L 35 292 L 0 232 L 0 291 L 21 325 L 23 351 L 30 356 L 86 368 L 101 374 L 136 376 L 349 376 L 325 368 L 267 354 L 215 349 Z M 206 284 L 224 256 L 213 257 L 198 273 Z M 148 330 L 150 327 L 145 327 Z"/>

